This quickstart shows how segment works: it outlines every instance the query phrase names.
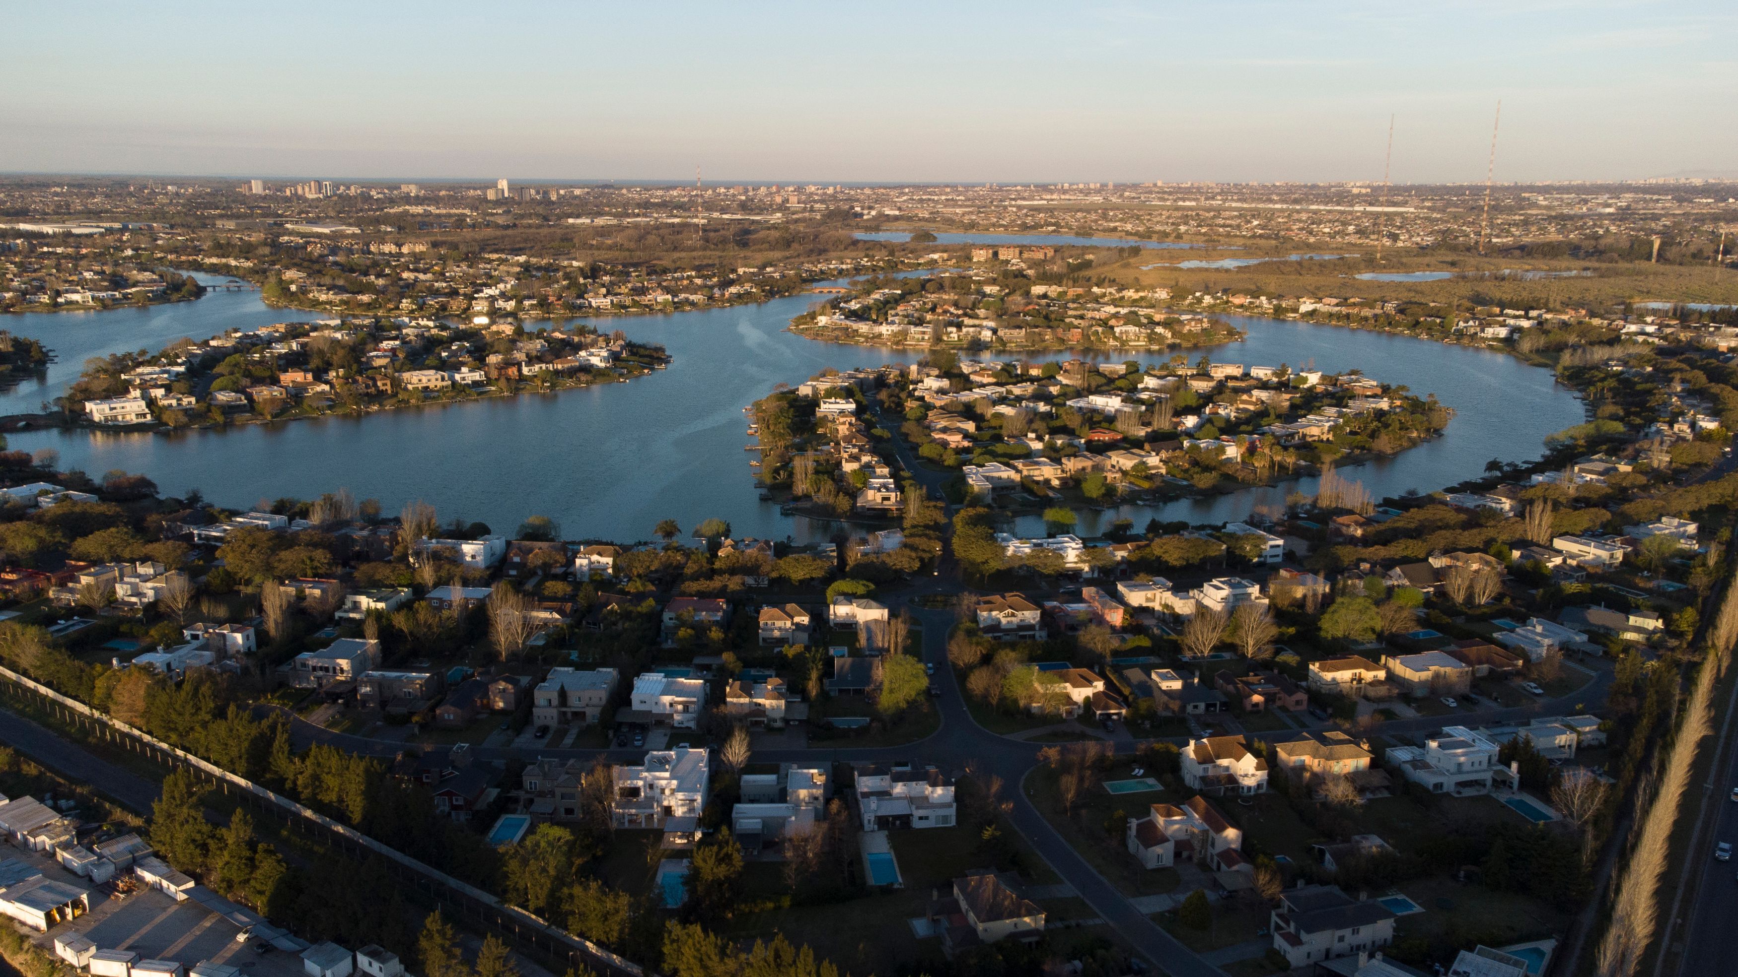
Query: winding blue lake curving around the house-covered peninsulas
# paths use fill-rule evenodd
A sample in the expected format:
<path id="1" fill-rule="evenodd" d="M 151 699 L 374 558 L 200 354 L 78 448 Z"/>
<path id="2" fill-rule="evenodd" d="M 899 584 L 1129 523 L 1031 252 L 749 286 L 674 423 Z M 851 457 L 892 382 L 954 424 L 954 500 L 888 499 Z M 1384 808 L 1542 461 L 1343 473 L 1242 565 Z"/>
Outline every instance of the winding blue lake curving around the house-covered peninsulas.
<path id="1" fill-rule="evenodd" d="M 9 443 L 24 451 L 54 448 L 63 465 L 97 477 L 111 469 L 143 472 L 169 495 L 198 488 L 226 507 L 349 488 L 356 498 L 379 498 L 388 514 L 422 498 L 441 519 L 476 519 L 502 533 L 541 514 L 560 521 L 568 538 L 627 541 L 650 538 L 666 517 L 685 529 L 720 517 L 737 534 L 826 540 L 836 526 L 782 515 L 777 505 L 760 502 L 747 465 L 754 455 L 742 449 L 753 441 L 742 408 L 766 396 L 773 384 L 796 384 L 827 366 L 911 363 L 921 352 L 822 344 L 786 331 L 789 319 L 817 300 L 798 295 L 760 305 L 589 319 L 598 328 L 662 344 L 674 357 L 667 370 L 627 384 L 226 430 L 36 430 L 12 434 Z M 78 342 L 80 352 L 63 354 L 43 392 L 68 382 L 85 356 L 109 349 L 320 318 L 269 309 L 252 292 L 90 316 L 61 323 L 59 314 L 43 314 L 7 323 L 50 349 Z M 1547 434 L 1583 420 L 1580 401 L 1550 371 L 1500 352 L 1295 321 L 1236 318 L 1234 323 L 1248 331 L 1246 342 L 1215 349 L 1215 359 L 1288 363 L 1293 370 L 1357 366 L 1420 396 L 1436 392 L 1458 411 L 1443 437 L 1347 470 L 1378 498 L 1458 482 L 1479 474 L 1489 458 L 1536 458 Z M 90 326 L 118 345 L 103 349 Z M 1199 354 L 1189 351 L 1191 359 Z M 1121 352 L 1100 357 L 1126 359 Z M 1283 498 L 1290 488 L 1295 486 L 1085 512 L 1081 531 L 1097 533 L 1121 515 L 1137 524 L 1152 515 L 1191 522 L 1241 519 L 1253 503 Z M 1302 488 L 1310 491 L 1309 482 Z M 1022 522 L 1022 529 L 1034 528 L 1041 524 Z"/>

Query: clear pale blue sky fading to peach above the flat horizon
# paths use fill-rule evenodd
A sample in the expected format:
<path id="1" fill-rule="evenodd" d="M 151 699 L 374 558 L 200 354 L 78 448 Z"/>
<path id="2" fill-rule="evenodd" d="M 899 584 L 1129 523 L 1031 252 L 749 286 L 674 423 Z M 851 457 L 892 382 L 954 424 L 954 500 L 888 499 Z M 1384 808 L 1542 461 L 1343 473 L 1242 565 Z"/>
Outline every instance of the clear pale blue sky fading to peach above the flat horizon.
<path id="1" fill-rule="evenodd" d="M 0 172 L 1738 177 L 1738 3 L 21 3 Z M 19 43 L 24 42 L 24 43 Z"/>

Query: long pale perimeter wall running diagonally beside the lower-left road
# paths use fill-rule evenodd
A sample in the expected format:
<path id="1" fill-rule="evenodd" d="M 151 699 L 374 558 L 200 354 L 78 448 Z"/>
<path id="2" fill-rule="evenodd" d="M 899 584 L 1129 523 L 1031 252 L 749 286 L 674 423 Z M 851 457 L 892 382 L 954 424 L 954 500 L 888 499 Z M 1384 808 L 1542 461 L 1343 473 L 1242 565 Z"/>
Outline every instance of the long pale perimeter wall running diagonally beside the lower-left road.
<path id="1" fill-rule="evenodd" d="M 362 831 L 334 821 L 276 791 L 262 788 L 247 777 L 236 776 L 222 767 L 217 767 L 216 764 L 209 764 L 188 753 L 186 750 L 163 743 L 162 739 L 101 713 L 78 699 L 63 696 L 40 682 L 12 672 L 10 668 L 0 666 L 0 680 L 3 680 L 0 682 L 0 687 L 5 687 L 5 691 L 19 696 L 35 696 L 38 705 L 47 706 L 50 713 L 59 715 L 59 718 L 71 724 L 82 722 L 101 732 L 109 743 L 118 741 L 125 744 L 127 750 L 144 753 L 160 764 L 181 764 L 198 770 L 219 790 L 222 790 L 224 797 L 229 797 L 233 790 L 242 800 L 252 802 L 262 810 L 283 816 L 290 826 L 306 828 L 308 824 L 313 824 L 316 828 L 323 828 L 346 852 L 374 854 L 386 859 L 396 878 L 412 883 L 417 890 L 426 892 L 438 902 L 454 906 L 462 920 L 469 918 L 473 923 L 490 927 L 495 932 L 511 937 L 521 951 L 530 951 L 535 956 L 558 960 L 567 965 L 601 965 L 617 977 L 648 977 L 645 968 L 631 960 L 610 953 L 608 949 L 561 930 L 560 927 L 553 927 L 518 906 L 507 906 L 495 895 L 490 895 L 468 882 L 461 882 L 396 849 L 382 845 Z"/>

